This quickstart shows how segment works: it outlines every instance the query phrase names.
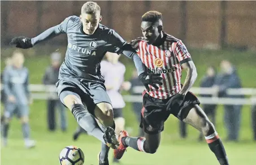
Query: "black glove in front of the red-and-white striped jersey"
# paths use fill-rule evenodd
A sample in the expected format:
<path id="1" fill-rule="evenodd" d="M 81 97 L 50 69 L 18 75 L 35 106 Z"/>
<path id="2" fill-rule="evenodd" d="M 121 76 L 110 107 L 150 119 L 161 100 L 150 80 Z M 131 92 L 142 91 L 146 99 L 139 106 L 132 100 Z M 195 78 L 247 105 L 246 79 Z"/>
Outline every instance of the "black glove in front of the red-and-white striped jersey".
<path id="1" fill-rule="evenodd" d="M 140 76 L 138 76 L 145 86 L 147 92 L 149 92 L 149 85 L 153 86 L 155 89 L 158 89 L 157 84 L 162 85 L 163 83 L 160 81 L 163 78 L 160 77 L 161 74 L 159 73 L 152 73 L 152 74 L 147 74 L 147 73 L 141 73 Z"/>

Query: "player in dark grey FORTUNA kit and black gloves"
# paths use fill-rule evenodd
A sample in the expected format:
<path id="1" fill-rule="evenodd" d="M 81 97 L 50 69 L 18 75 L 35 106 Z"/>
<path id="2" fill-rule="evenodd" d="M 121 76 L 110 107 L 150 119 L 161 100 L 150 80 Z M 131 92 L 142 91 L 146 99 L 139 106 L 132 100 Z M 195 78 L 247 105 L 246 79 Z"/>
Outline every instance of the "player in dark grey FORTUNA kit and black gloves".
<path id="1" fill-rule="evenodd" d="M 81 8 L 80 18 L 70 16 L 59 25 L 47 29 L 32 39 L 15 37 L 11 44 L 23 49 L 67 33 L 68 46 L 66 57 L 59 71 L 57 93 L 60 101 L 72 112 L 77 123 L 88 134 L 102 141 L 99 164 L 107 165 L 109 147 L 115 149 L 119 142 L 115 137 L 115 123 L 109 96 L 106 93 L 104 79 L 101 76 L 100 62 L 107 51 L 124 54 L 132 58 L 138 70 L 142 83 L 149 88 L 149 84 L 157 87 L 161 83 L 159 74 L 148 75 L 138 55 L 114 30 L 99 22 L 101 8 L 95 2 L 86 2 Z M 101 130 L 97 118 L 105 127 Z"/>

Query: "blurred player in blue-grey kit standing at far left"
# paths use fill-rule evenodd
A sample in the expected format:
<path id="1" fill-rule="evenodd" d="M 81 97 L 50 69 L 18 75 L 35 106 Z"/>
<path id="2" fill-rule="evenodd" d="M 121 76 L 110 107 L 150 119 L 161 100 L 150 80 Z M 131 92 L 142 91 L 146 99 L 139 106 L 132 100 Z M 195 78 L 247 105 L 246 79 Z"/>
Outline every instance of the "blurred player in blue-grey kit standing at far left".
<path id="1" fill-rule="evenodd" d="M 29 106 L 32 102 L 28 84 L 28 69 L 23 67 L 24 55 L 20 51 L 14 51 L 11 66 L 7 66 L 3 73 L 3 90 L 6 95 L 5 121 L 3 122 L 2 136 L 3 145 L 7 145 L 7 134 L 12 115 L 16 113 L 21 120 L 25 147 L 35 146 L 30 139 Z"/>

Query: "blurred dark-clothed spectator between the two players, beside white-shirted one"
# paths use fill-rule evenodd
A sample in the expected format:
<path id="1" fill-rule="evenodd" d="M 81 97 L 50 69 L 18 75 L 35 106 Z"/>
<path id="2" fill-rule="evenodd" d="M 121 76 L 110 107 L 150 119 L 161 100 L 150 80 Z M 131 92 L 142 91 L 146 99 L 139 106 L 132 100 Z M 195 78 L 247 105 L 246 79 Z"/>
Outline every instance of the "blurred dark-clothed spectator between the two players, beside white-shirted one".
<path id="1" fill-rule="evenodd" d="M 140 95 L 141 96 L 141 93 L 144 91 L 144 88 L 142 88 L 141 92 L 138 92 L 137 90 L 134 89 L 134 87 L 136 87 L 136 86 L 144 86 L 141 83 L 140 79 L 138 78 L 138 73 L 137 73 L 136 69 L 133 70 L 132 79 L 130 80 L 130 82 L 132 84 L 130 93 L 132 95 Z M 134 113 L 136 115 L 137 121 L 138 121 L 138 123 L 140 123 L 141 122 L 142 103 L 141 102 L 132 102 L 132 107 L 133 107 L 133 111 L 134 111 Z M 139 137 L 141 137 L 141 136 L 144 137 L 144 131 L 140 127 L 139 127 L 138 136 Z"/>

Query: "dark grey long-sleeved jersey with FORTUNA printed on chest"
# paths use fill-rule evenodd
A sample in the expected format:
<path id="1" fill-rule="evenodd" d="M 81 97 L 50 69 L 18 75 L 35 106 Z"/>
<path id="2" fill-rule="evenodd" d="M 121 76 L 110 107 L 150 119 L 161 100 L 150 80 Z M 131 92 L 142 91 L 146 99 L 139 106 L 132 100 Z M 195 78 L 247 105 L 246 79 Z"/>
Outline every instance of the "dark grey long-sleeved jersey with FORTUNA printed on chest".
<path id="1" fill-rule="evenodd" d="M 68 45 L 66 57 L 59 70 L 59 79 L 75 77 L 88 81 L 103 81 L 100 62 L 107 51 L 122 53 L 132 58 L 138 74 L 144 72 L 144 65 L 136 51 L 118 33 L 99 24 L 94 34 L 85 34 L 83 24 L 77 16 L 70 16 L 59 25 L 32 38 L 32 45 L 62 33 L 67 33 Z"/>

